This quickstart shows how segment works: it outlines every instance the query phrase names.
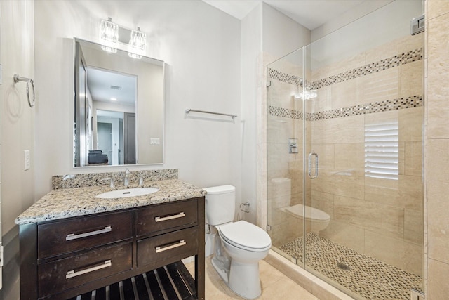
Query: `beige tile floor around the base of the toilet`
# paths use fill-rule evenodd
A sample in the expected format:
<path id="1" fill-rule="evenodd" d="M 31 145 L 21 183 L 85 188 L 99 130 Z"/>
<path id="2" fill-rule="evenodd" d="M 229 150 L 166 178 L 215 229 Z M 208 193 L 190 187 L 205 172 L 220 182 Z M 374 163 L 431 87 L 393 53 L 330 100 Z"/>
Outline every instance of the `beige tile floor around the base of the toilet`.
<path id="1" fill-rule="evenodd" d="M 187 270 L 194 273 L 194 263 L 186 263 Z M 319 300 L 306 289 L 297 285 L 293 280 L 283 275 L 279 270 L 266 261 L 260 261 L 260 282 L 262 295 L 257 299 L 265 300 Z M 193 276 L 193 275 L 192 275 Z M 220 278 L 210 263 L 210 257 L 206 258 L 206 299 L 228 300 L 243 299 L 232 292 L 226 283 Z"/>

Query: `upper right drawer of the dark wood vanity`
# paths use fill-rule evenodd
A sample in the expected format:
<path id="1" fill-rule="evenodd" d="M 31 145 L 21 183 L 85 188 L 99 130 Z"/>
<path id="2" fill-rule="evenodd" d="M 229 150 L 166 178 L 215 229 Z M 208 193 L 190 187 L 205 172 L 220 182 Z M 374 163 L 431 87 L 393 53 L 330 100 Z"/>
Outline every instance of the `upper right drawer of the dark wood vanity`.
<path id="1" fill-rule="evenodd" d="M 135 213 L 135 232 L 138 237 L 178 226 L 196 225 L 197 201 L 178 201 L 138 209 Z"/>

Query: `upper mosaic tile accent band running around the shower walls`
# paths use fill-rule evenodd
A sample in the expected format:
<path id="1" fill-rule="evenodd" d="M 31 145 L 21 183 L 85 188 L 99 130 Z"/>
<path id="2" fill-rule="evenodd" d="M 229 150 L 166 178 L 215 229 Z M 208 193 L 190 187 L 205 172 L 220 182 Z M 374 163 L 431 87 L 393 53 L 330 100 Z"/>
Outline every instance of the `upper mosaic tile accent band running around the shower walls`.
<path id="1" fill-rule="evenodd" d="M 379 60 L 375 63 L 370 63 L 362 67 L 356 67 L 353 70 L 348 70 L 337 75 L 333 75 L 327 78 L 319 79 L 313 82 L 307 82 L 307 87 L 310 89 L 320 89 L 324 86 L 330 86 L 332 84 L 338 84 L 343 81 L 356 79 L 368 74 L 373 74 L 383 70 L 390 69 L 391 67 L 398 67 L 406 63 L 412 63 L 417 60 L 422 60 L 422 48 L 408 51 L 390 58 Z M 288 84 L 295 84 L 297 86 L 302 82 L 300 78 L 294 75 L 289 75 L 272 68 L 268 68 L 268 76 L 271 79 L 286 82 Z"/>

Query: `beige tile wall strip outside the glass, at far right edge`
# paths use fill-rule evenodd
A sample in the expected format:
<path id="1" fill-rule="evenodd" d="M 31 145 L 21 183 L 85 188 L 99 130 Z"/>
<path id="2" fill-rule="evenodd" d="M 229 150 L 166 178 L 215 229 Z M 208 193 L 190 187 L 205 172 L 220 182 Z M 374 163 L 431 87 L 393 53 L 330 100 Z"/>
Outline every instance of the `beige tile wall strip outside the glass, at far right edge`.
<path id="1" fill-rule="evenodd" d="M 426 4 L 426 299 L 439 300 L 449 294 L 449 1 Z"/>

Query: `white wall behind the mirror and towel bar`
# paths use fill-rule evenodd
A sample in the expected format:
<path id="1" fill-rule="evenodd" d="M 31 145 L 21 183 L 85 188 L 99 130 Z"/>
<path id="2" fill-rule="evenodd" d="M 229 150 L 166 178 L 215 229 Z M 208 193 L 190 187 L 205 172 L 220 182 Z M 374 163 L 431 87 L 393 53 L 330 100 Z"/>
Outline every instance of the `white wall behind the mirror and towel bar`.
<path id="1" fill-rule="evenodd" d="M 240 22 L 202 1 L 36 1 L 36 198 L 51 176 L 123 167 L 72 168 L 72 58 L 79 37 L 98 41 L 100 19 L 147 32 L 147 56 L 167 64 L 165 161 L 200 187 L 236 185 L 241 191 L 241 118 L 217 122 L 186 108 L 239 114 Z M 124 49 L 126 50 L 126 49 Z M 128 166 L 127 166 L 128 167 Z"/>

